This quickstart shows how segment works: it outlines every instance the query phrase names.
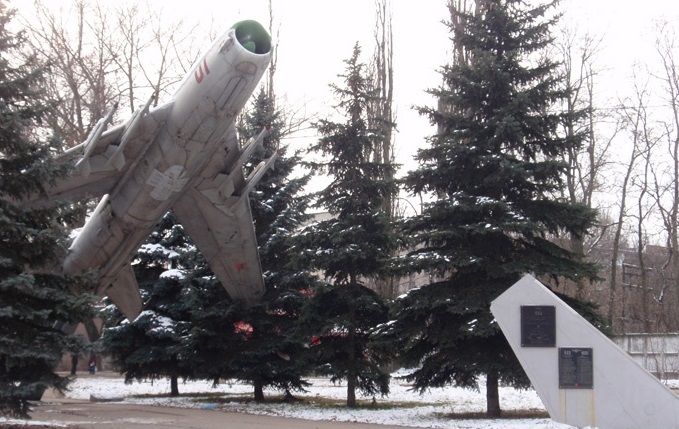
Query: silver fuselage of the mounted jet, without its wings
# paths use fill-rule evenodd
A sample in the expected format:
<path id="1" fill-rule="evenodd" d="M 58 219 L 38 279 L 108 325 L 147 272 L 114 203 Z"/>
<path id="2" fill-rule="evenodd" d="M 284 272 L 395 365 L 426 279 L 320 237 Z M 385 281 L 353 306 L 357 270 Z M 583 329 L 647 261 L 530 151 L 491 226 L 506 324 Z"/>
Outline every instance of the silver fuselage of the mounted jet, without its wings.
<path id="1" fill-rule="evenodd" d="M 154 225 L 196 185 L 208 163 L 225 158 L 225 150 L 238 150 L 235 139 L 225 135 L 270 60 L 269 47 L 251 52 L 256 48 L 246 48 L 247 43 L 231 29 L 194 66 L 166 107 L 171 111 L 155 137 L 136 153 L 126 153 L 132 165 L 73 241 L 66 273 L 97 269 L 98 293 L 106 294 Z"/>

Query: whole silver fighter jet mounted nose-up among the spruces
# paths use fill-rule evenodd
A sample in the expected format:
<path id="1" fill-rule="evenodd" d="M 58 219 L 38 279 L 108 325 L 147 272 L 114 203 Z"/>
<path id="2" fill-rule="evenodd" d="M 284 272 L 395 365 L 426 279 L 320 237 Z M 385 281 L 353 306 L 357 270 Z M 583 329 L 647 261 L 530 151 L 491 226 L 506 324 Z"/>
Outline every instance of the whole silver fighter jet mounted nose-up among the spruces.
<path id="1" fill-rule="evenodd" d="M 113 110 L 87 140 L 63 154 L 71 174 L 31 203 L 46 206 L 103 196 L 69 248 L 67 274 L 95 269 L 97 293 L 128 319 L 142 308 L 132 255 L 173 210 L 229 295 L 248 303 L 264 292 L 248 193 L 275 155 L 247 177 L 243 164 L 266 131 L 240 147 L 234 120 L 270 61 L 271 38 L 242 21 L 219 38 L 186 76 L 174 100 L 151 101 L 107 129 Z"/>

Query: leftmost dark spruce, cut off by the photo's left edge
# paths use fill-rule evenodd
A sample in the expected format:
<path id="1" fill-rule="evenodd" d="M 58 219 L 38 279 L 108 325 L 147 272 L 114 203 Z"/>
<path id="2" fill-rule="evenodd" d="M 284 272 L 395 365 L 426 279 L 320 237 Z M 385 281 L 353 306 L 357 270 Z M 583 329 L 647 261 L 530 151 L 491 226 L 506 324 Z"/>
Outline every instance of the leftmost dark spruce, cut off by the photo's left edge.
<path id="1" fill-rule="evenodd" d="M 18 201 L 55 177 L 50 147 L 39 139 L 41 67 L 25 60 L 24 38 L 8 26 L 13 12 L 0 0 L 0 414 L 27 416 L 29 401 L 68 379 L 54 369 L 78 341 L 60 327 L 90 313 L 74 279 L 54 274 L 65 231 L 60 209 L 30 210 Z"/>

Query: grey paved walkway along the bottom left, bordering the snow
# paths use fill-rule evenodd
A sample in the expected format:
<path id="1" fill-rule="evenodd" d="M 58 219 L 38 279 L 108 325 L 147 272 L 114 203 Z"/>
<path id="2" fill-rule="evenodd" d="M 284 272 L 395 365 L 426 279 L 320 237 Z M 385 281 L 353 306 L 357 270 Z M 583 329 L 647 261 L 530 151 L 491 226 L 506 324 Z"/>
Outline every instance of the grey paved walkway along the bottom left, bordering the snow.
<path id="1" fill-rule="evenodd" d="M 319 422 L 256 416 L 218 410 L 100 403 L 50 399 L 31 413 L 34 420 L 58 422 L 81 429 L 403 429 L 403 426 Z"/>

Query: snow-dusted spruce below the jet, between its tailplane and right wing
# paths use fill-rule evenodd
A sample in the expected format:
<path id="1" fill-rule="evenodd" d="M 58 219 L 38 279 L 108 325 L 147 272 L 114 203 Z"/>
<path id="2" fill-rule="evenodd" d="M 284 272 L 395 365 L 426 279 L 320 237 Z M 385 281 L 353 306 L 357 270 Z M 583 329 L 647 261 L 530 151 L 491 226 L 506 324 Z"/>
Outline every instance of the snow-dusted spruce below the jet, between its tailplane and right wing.
<path id="1" fill-rule="evenodd" d="M 207 262 L 168 213 L 135 256 L 144 311 L 127 321 L 114 305 L 103 318 L 100 347 L 125 380 L 233 378 L 247 335 L 246 313 L 233 302 Z"/>

